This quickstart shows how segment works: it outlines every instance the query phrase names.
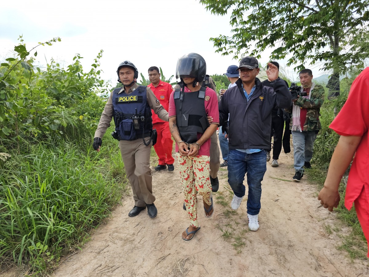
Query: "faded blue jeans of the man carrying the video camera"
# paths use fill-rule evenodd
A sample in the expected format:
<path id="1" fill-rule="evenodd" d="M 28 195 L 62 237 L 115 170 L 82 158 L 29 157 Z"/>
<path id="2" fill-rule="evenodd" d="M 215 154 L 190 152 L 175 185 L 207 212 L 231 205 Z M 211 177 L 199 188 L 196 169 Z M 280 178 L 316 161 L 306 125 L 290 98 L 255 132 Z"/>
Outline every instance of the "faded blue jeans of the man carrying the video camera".
<path id="1" fill-rule="evenodd" d="M 315 138 L 317 138 L 315 131 L 292 131 L 293 159 L 296 172 L 303 172 L 305 162 L 311 161 Z"/>

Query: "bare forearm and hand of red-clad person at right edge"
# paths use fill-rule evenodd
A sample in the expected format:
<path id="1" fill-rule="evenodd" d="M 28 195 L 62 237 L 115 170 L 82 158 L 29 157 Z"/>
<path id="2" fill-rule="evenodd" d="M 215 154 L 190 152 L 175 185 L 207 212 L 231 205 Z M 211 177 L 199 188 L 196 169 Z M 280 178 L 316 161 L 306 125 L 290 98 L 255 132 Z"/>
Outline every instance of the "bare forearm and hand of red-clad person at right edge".
<path id="1" fill-rule="evenodd" d="M 341 136 L 338 140 L 337 147 L 333 152 L 329 164 L 324 187 L 318 195 L 320 204 L 323 205 L 324 208 L 328 208 L 328 211 L 332 212 L 333 207 L 337 208 L 338 206 L 340 200 L 338 194 L 339 182 L 341 182 L 345 170 L 351 163 L 360 141 L 361 137 L 358 136 Z"/>

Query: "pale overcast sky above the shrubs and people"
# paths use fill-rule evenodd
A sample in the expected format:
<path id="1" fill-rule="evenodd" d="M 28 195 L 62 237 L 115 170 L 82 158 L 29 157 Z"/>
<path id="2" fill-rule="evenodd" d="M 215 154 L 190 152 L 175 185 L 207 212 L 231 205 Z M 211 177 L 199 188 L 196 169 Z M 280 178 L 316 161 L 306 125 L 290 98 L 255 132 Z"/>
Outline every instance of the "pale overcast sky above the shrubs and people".
<path id="1" fill-rule="evenodd" d="M 209 75 L 223 74 L 229 65 L 238 64 L 231 56 L 215 53 L 209 41 L 210 37 L 231 34 L 229 16 L 212 15 L 198 0 L 18 0 L 1 6 L 1 59 L 12 55 L 18 35 L 23 34 L 27 49 L 61 38 L 53 46 L 37 48 L 41 64 L 46 63 L 45 58 L 54 58 L 67 66 L 79 53 L 84 57 L 84 70 L 89 71 L 103 49 L 102 78 L 114 84 L 117 66 L 125 60 L 133 62 L 146 78 L 150 66 L 160 66 L 167 78 L 175 75 L 177 59 L 189 52 L 204 57 Z M 262 53 L 259 62 L 265 65 L 269 55 L 270 51 Z M 279 63 L 282 67 L 285 64 Z M 324 73 L 317 66 L 312 69 L 314 77 Z M 293 69 L 288 70 L 296 78 Z"/>

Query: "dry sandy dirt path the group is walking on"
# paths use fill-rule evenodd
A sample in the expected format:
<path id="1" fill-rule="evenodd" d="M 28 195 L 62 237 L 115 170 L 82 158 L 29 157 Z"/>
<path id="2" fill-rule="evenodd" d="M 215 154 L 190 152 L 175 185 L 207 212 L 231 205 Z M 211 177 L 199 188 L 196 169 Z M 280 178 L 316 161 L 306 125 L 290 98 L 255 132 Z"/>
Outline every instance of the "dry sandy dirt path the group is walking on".
<path id="1" fill-rule="evenodd" d="M 316 188 L 305 177 L 279 180 L 291 179 L 292 164 L 291 153 L 281 154 L 277 168 L 268 163 L 257 232 L 248 230 L 246 197 L 231 211 L 227 170 L 221 169 L 215 213 L 205 218 L 199 201 L 201 230 L 189 242 L 181 237 L 189 222 L 177 170 L 153 172 L 158 216 L 150 219 L 145 210 L 129 218 L 133 201 L 124 197 L 53 276 L 369 276 L 367 262 L 351 262 L 336 249 L 338 237 L 325 233 L 324 224 L 339 223 L 320 207 Z"/>

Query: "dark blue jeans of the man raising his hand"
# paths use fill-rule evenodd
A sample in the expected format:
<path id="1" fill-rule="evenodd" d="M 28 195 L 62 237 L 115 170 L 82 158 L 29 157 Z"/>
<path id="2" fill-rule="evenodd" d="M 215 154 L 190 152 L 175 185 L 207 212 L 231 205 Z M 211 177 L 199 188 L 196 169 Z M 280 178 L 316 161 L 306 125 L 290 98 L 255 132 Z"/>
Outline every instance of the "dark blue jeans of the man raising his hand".
<path id="1" fill-rule="evenodd" d="M 247 213 L 257 215 L 260 211 L 261 181 L 266 171 L 266 151 L 246 154 L 230 149 L 228 154 L 228 183 L 237 197 L 245 195 L 243 184 L 247 173 L 249 187 L 247 197 Z"/>

